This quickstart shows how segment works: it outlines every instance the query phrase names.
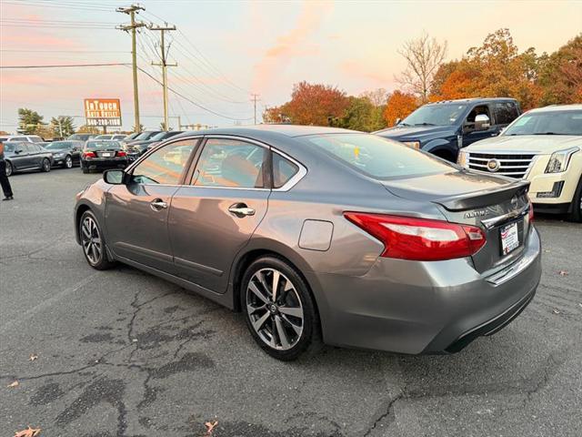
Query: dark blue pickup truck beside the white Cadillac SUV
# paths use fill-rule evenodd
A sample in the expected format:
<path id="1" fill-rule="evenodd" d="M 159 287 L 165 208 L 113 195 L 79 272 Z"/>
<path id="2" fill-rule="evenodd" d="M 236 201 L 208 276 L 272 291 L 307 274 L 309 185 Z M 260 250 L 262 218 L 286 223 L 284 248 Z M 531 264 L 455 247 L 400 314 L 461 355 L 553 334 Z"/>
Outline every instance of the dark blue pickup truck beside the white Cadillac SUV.
<path id="1" fill-rule="evenodd" d="M 513 98 L 447 100 L 419 107 L 396 127 L 375 133 L 456 162 L 459 149 L 499 135 L 520 114 Z"/>

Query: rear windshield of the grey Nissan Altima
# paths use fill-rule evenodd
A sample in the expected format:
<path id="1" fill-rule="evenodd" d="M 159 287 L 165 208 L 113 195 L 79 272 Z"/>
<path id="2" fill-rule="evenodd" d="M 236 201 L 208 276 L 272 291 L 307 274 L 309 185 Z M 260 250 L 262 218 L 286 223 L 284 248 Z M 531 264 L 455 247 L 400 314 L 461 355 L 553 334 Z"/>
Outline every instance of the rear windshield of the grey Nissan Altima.
<path id="1" fill-rule="evenodd" d="M 315 135 L 305 139 L 333 158 L 372 178 L 421 176 L 456 169 L 425 152 L 376 135 Z"/>

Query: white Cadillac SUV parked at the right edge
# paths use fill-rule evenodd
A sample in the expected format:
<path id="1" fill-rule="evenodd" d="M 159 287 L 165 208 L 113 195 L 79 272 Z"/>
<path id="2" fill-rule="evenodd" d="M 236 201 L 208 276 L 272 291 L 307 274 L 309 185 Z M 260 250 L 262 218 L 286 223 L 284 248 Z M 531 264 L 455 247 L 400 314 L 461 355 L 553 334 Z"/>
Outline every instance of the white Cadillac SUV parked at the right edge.
<path id="1" fill-rule="evenodd" d="M 526 179 L 534 208 L 582 221 L 582 105 L 528 111 L 499 137 L 461 151 L 459 164 Z"/>

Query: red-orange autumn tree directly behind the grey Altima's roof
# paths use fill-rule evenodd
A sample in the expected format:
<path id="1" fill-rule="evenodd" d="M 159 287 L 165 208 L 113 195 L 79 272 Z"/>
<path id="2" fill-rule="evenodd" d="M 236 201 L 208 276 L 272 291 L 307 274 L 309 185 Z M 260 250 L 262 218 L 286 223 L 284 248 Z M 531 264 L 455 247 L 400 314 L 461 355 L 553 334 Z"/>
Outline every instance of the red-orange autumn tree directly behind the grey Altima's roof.
<path id="1" fill-rule="evenodd" d="M 335 126 L 349 101 L 336 86 L 300 82 L 285 104 L 285 117 L 294 125 Z"/>

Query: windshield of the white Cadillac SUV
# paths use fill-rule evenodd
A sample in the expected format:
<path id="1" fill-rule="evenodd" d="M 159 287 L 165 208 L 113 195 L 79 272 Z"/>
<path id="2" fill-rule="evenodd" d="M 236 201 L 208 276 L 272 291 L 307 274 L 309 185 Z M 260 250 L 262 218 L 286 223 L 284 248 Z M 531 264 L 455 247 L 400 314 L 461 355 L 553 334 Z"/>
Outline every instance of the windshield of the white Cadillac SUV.
<path id="1" fill-rule="evenodd" d="M 524 114 L 503 133 L 504 137 L 513 135 L 582 135 L 582 111 Z"/>

